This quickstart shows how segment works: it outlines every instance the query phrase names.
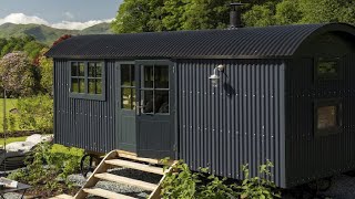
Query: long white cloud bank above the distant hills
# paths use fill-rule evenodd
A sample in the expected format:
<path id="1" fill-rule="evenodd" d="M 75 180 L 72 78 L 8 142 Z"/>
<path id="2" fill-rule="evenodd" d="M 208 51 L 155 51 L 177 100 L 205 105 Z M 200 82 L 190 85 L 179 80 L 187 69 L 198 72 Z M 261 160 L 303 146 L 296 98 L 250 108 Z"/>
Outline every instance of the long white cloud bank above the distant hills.
<path id="1" fill-rule="evenodd" d="M 71 14 L 71 13 L 68 12 L 68 14 Z M 69 17 L 69 15 L 67 15 L 67 17 Z M 52 27 L 52 28 L 55 28 L 55 29 L 83 30 L 83 29 L 87 29 L 89 27 L 92 27 L 92 25 L 95 25 L 95 24 L 99 24 L 99 23 L 111 22 L 112 20 L 113 19 L 90 20 L 90 21 L 87 21 L 87 22 L 61 21 L 61 22 L 58 22 L 58 23 L 49 23 L 44 19 L 41 19 L 41 18 L 36 17 L 36 15 L 26 15 L 23 13 L 11 13 L 11 14 L 7 15 L 3 19 L 0 18 L 0 25 L 3 24 L 3 23 L 14 23 L 14 24 L 34 23 L 34 24 L 44 24 L 44 25 Z"/>

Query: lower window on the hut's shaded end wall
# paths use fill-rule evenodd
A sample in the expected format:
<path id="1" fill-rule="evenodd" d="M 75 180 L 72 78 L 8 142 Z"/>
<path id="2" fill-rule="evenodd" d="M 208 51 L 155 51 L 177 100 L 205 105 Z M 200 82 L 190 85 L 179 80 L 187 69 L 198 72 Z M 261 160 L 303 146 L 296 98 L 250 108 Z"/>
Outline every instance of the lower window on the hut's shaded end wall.
<path id="1" fill-rule="evenodd" d="M 342 104 L 338 101 L 317 102 L 315 127 L 317 136 L 339 133 L 342 127 Z"/>

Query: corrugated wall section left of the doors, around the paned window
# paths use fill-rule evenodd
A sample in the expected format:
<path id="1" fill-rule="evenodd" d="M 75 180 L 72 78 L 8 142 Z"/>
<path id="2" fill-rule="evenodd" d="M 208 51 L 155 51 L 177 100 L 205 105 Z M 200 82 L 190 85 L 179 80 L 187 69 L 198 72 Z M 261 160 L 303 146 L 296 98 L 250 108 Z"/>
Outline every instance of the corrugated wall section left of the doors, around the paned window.
<path id="1" fill-rule="evenodd" d="M 54 130 L 55 143 L 105 153 L 118 148 L 115 129 L 114 62 L 105 62 L 106 100 L 92 101 L 69 96 L 69 65 L 54 63 Z"/>

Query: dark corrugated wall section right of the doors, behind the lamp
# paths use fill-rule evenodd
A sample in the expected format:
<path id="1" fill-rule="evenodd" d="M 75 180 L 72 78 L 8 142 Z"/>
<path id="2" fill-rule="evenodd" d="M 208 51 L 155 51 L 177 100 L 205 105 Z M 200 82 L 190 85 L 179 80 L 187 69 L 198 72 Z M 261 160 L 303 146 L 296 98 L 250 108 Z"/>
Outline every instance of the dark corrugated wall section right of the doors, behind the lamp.
<path id="1" fill-rule="evenodd" d="M 223 84 L 209 76 L 225 65 Z M 209 167 L 219 176 L 241 178 L 266 159 L 273 180 L 284 186 L 284 69 L 280 61 L 185 60 L 178 63 L 179 150 L 193 170 Z"/>

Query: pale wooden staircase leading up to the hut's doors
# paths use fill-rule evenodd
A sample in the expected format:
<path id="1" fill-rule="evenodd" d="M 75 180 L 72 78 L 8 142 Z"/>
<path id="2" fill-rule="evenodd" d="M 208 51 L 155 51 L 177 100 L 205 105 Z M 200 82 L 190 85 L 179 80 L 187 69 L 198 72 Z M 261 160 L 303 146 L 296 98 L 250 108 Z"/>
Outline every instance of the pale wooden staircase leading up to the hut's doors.
<path id="1" fill-rule="evenodd" d="M 109 199 L 134 199 L 131 196 L 112 192 L 101 188 L 94 188 L 94 186 L 101 180 L 138 187 L 143 190 L 151 191 L 151 195 L 149 197 L 150 199 L 158 199 L 158 198 L 161 198 L 160 197 L 161 184 L 165 178 L 165 174 L 172 171 L 171 166 L 173 165 L 173 161 L 170 161 L 169 165 L 170 165 L 170 168 L 164 171 L 162 168 L 161 161 L 158 159 L 140 158 L 140 157 L 136 157 L 134 154 L 129 154 L 120 150 L 112 150 L 102 159 L 102 161 L 92 172 L 92 175 L 88 178 L 84 186 L 78 191 L 78 193 L 74 197 L 71 197 L 68 195 L 60 195 L 60 196 L 53 197 L 53 199 L 70 199 L 70 198 L 83 199 L 83 198 L 87 198 L 88 195 L 94 195 L 94 196 L 109 198 Z M 155 184 L 151 184 L 142 180 L 136 180 L 132 178 L 109 174 L 108 169 L 112 167 L 123 167 L 123 168 L 141 170 L 144 172 L 161 175 L 162 178 L 159 181 L 159 184 L 155 185 Z"/>

